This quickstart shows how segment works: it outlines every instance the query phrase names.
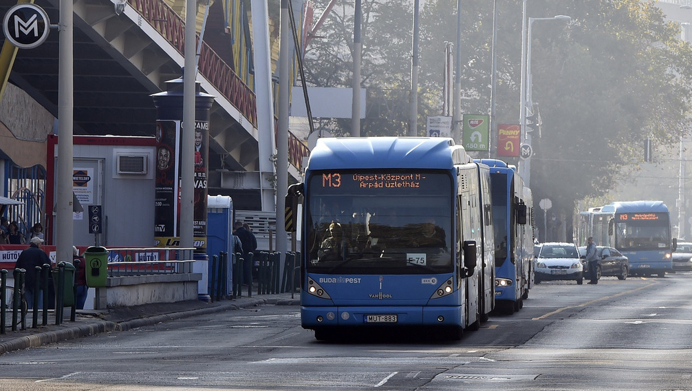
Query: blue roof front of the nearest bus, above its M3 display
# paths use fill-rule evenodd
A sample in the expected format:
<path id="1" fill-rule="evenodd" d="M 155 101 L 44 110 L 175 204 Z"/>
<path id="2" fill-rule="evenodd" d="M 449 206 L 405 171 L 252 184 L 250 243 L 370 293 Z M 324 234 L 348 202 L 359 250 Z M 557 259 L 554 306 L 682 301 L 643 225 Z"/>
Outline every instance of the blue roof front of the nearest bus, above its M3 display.
<path id="1" fill-rule="evenodd" d="M 308 170 L 339 168 L 453 168 L 471 163 L 464 147 L 443 137 L 323 137 Z"/>

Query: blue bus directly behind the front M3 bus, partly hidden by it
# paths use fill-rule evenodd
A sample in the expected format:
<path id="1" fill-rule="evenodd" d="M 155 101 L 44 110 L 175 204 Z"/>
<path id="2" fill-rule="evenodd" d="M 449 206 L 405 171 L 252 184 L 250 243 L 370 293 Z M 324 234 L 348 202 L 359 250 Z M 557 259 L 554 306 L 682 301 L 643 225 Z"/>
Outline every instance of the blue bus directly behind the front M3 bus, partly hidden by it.
<path id="1" fill-rule="evenodd" d="M 482 159 L 490 167 L 495 228 L 495 308 L 514 313 L 534 284 L 534 200 L 514 167 Z"/>

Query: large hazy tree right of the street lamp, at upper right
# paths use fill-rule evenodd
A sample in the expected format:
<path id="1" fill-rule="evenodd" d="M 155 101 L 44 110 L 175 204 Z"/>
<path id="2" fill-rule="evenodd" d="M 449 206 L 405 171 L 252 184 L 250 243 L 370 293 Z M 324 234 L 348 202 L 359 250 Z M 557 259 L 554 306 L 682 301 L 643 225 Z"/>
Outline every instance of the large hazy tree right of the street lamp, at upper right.
<path id="1" fill-rule="evenodd" d="M 534 35 L 534 100 L 549 104 L 531 188 L 569 217 L 643 161 L 647 137 L 671 145 L 688 129 L 692 51 L 653 3 L 585 1 L 565 13 L 565 34 Z"/>

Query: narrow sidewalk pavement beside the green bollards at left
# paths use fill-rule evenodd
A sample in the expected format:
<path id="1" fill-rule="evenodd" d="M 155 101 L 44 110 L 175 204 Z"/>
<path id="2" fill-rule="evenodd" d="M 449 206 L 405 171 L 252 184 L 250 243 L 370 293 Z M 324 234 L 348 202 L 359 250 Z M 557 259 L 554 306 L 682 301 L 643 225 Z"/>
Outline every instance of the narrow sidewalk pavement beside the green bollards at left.
<path id="1" fill-rule="evenodd" d="M 70 307 L 65 307 L 63 322 L 55 325 L 55 312 L 48 311 L 48 324 L 42 326 L 42 313 L 39 311 L 38 327 L 33 329 L 33 312 L 26 315 L 26 329 L 12 331 L 8 326 L 6 334 L 0 334 L 0 355 L 6 352 L 39 347 L 61 340 L 70 340 L 83 336 L 105 333 L 109 331 L 126 331 L 136 327 L 154 325 L 159 322 L 188 318 L 189 316 L 205 315 L 221 311 L 231 311 L 255 307 L 264 304 L 300 305 L 300 293 L 277 293 L 270 295 L 254 295 L 251 298 L 241 297 L 218 302 L 189 300 L 172 303 L 143 304 L 135 307 L 118 307 L 104 310 L 78 310 L 75 321 L 70 321 Z M 11 323 L 12 313 L 8 313 Z"/>

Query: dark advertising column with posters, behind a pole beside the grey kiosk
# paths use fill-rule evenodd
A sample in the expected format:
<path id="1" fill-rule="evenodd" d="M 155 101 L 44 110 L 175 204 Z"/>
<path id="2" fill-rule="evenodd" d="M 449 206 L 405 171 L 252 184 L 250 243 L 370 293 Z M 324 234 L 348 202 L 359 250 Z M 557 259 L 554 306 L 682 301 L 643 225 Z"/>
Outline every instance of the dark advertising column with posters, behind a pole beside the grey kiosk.
<path id="1" fill-rule="evenodd" d="M 183 123 L 183 79 L 166 82 L 167 91 L 155 93 L 156 121 L 156 197 L 154 201 L 154 242 L 156 246 L 180 244 L 181 132 Z M 194 247 L 206 253 L 207 247 L 207 171 L 209 154 L 209 116 L 214 96 L 200 91 L 196 84 L 194 131 Z"/>

